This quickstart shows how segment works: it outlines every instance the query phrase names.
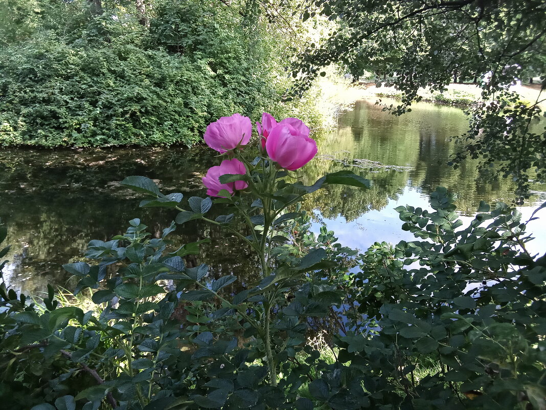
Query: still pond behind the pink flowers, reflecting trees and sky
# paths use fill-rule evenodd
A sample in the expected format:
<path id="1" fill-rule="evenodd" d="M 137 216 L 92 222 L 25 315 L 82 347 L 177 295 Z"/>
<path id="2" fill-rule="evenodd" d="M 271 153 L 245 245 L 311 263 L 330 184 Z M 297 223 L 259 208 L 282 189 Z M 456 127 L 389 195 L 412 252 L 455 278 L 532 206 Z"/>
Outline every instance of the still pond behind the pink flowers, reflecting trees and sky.
<path id="1" fill-rule="evenodd" d="M 428 103 L 414 104 L 400 117 L 383 112 L 374 101 L 358 101 L 339 116 L 336 132 L 319 139 L 319 155 L 302 175 L 306 182 L 324 173 L 351 169 L 372 180 L 368 191 L 331 186 L 308 196 L 304 207 L 314 214 L 313 229 L 321 224 L 336 232 L 340 242 L 366 249 L 375 241 L 411 240 L 401 230 L 394 208 L 411 204 L 430 208 L 428 197 L 442 185 L 458 194 L 461 218 L 469 221 L 479 201 L 511 201 L 511 181 L 487 181 L 476 171 L 476 161 L 458 169 L 446 166 L 454 143 L 464 133 L 462 110 Z M 39 294 L 47 283 L 71 288 L 63 263 L 80 260 L 91 239 L 106 241 L 126 229 L 135 217 L 161 232 L 174 219 L 172 210 L 143 209 L 139 197 L 119 182 L 128 175 L 157 180 L 164 192 L 185 197 L 204 196 L 201 177 L 217 159 L 206 147 L 186 149 L 123 148 L 86 150 L 22 150 L 0 153 L 0 220 L 8 226 L 11 245 L 4 279 L 27 294 Z M 529 218 L 531 205 L 546 200 L 546 187 L 533 187 L 536 195 L 520 207 Z M 546 210 L 542 211 L 546 214 Z M 546 248 L 546 215 L 531 222 L 535 241 L 530 249 Z M 232 239 L 210 227 L 177 227 L 177 243 L 210 237 L 198 262 L 211 266 L 215 277 L 233 272 L 251 281 L 256 260 L 245 249 L 235 252 Z"/>

